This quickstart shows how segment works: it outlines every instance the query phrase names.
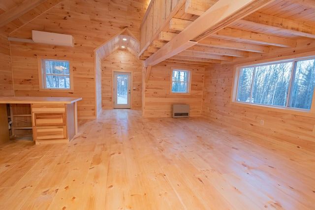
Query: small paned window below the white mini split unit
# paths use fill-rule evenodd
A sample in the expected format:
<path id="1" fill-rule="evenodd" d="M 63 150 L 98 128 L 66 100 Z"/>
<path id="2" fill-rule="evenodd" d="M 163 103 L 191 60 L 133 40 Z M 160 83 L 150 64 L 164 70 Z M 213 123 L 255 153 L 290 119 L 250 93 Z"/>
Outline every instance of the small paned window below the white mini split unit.
<path id="1" fill-rule="evenodd" d="M 72 90 L 70 60 L 39 58 L 40 85 L 44 90 Z"/>

